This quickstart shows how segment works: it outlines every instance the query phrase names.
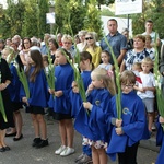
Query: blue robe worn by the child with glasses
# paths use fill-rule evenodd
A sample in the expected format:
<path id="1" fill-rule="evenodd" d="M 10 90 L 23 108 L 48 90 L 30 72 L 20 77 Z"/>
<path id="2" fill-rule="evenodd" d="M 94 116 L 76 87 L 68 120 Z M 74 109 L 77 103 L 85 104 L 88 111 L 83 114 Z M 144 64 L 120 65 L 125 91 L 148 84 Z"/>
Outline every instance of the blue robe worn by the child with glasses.
<path id="1" fill-rule="evenodd" d="M 110 101 L 114 117 L 117 118 L 116 97 Z M 121 94 L 121 119 L 124 134 L 118 136 L 113 127 L 112 138 L 107 148 L 107 154 L 113 161 L 116 160 L 116 153 L 125 152 L 126 147 L 132 147 L 142 139 L 149 139 L 147 126 L 145 109 L 141 98 L 136 92 Z"/>

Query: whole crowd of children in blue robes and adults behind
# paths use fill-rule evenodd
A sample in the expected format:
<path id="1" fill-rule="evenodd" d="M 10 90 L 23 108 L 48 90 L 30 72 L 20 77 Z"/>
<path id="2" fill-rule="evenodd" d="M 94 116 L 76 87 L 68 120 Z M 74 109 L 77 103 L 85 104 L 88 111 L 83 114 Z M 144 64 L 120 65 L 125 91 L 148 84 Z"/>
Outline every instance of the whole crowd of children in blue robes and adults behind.
<path id="1" fill-rule="evenodd" d="M 160 72 L 161 77 L 164 74 L 164 46 L 153 32 L 153 22 L 148 20 L 145 32 L 132 38 L 127 28 L 118 32 L 115 19 L 107 21 L 107 27 L 109 33 L 101 40 L 95 32 L 84 30 L 74 37 L 46 33 L 43 40 L 35 36 L 21 39 L 19 35 L 0 39 L 0 92 L 7 116 L 5 121 L 1 108 L 0 152 L 10 150 L 5 137 L 13 136 L 13 141 L 23 139 L 22 107 L 32 117 L 32 147 L 49 144 L 45 114 L 59 121 L 61 144 L 55 150 L 56 155 L 74 153 L 74 129 L 81 133 L 82 154 L 75 159 L 77 164 L 107 164 L 107 156 L 116 160 L 116 154 L 119 164 L 137 164 L 139 142 L 149 139 L 153 130 L 160 131 L 157 143 L 164 147 L 160 128 L 164 118 L 159 116 L 155 105 L 153 72 L 155 48 L 161 47 Z M 78 56 L 81 78 L 77 80 L 71 63 L 75 65 Z M 115 62 L 120 72 L 116 72 Z M 50 71 L 52 85 L 48 83 Z M 19 80 L 19 72 L 26 75 L 30 95 Z M 120 118 L 116 73 L 120 73 Z M 162 91 L 163 86 L 162 83 Z M 156 164 L 164 160 L 162 153 L 160 151 Z"/>

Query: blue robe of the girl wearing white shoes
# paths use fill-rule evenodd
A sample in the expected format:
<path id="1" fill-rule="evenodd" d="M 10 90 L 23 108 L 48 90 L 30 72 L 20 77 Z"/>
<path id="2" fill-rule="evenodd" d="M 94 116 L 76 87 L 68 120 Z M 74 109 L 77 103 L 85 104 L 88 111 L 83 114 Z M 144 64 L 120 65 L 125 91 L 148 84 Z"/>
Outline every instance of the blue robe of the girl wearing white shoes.
<path id="1" fill-rule="evenodd" d="M 73 82 L 73 69 L 69 63 L 59 65 L 55 69 L 55 90 L 61 90 L 63 95 L 55 98 L 54 110 L 61 114 L 71 114 L 69 92 Z"/>

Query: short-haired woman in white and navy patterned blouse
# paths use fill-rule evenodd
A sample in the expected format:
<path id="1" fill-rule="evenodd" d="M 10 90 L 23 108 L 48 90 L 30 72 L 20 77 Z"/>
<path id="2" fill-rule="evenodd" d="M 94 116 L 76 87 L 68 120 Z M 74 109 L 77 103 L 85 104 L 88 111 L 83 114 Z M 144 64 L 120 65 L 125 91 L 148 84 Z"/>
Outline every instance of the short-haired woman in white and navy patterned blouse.
<path id="1" fill-rule="evenodd" d="M 133 49 L 128 50 L 120 66 L 120 71 L 132 70 L 134 62 L 141 62 L 143 58 L 149 57 L 149 52 L 144 48 L 145 36 L 138 34 L 133 37 Z"/>

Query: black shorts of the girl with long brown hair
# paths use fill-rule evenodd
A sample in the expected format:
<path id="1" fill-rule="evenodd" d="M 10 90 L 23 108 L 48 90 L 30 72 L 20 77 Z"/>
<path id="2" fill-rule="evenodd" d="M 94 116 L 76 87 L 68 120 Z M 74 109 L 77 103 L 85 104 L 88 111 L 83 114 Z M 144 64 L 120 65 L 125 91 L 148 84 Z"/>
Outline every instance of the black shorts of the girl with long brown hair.
<path id="1" fill-rule="evenodd" d="M 45 109 L 40 106 L 26 106 L 26 113 L 45 115 Z"/>

